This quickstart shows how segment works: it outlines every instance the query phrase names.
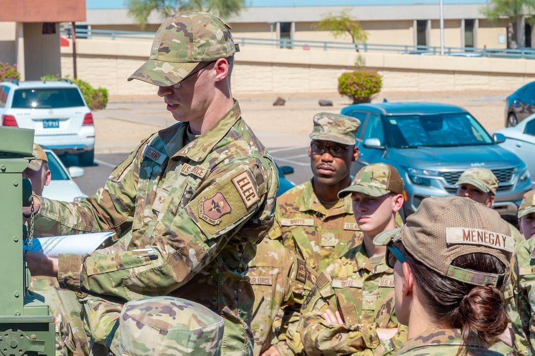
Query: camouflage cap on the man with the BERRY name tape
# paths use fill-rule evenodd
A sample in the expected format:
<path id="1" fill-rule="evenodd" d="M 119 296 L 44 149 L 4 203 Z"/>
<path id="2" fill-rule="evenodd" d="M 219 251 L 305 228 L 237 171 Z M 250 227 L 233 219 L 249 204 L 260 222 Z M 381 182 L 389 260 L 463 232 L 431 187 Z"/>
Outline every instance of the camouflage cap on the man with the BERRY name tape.
<path id="1" fill-rule="evenodd" d="M 177 84 L 200 62 L 234 55 L 231 27 L 207 12 L 184 11 L 167 17 L 158 28 L 150 57 L 128 80 L 158 86 Z"/>

